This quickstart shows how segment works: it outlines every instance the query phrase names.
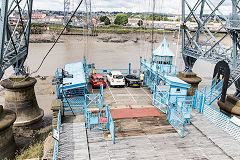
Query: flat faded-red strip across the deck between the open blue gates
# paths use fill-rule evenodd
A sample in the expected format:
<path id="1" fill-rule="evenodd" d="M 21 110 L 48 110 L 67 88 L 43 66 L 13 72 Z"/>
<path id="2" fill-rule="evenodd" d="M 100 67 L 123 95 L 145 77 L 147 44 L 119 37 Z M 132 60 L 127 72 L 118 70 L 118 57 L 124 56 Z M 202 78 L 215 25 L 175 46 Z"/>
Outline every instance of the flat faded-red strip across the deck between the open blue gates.
<path id="1" fill-rule="evenodd" d="M 156 108 L 111 109 L 111 115 L 113 119 L 165 116 L 165 114 L 160 114 Z"/>

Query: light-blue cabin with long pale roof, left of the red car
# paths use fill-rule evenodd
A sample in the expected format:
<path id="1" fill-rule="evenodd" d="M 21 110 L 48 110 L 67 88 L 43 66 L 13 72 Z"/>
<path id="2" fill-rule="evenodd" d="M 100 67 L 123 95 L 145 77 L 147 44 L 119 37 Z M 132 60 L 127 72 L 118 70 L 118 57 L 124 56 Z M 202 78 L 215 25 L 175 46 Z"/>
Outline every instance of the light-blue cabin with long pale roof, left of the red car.
<path id="1" fill-rule="evenodd" d="M 57 98 L 63 103 L 63 114 L 65 112 L 85 113 L 86 101 L 91 96 L 86 96 L 88 75 L 91 70 L 89 66 L 84 57 L 83 62 L 66 64 L 64 69 L 56 70 L 56 92 Z"/>

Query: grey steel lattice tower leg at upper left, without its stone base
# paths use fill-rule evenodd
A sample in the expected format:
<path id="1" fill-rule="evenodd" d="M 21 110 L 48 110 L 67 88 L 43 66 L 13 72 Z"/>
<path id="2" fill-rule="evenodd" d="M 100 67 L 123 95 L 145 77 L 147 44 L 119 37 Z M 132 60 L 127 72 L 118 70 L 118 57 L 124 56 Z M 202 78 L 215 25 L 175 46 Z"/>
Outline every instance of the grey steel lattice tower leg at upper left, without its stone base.
<path id="1" fill-rule="evenodd" d="M 0 79 L 13 66 L 15 74 L 24 73 L 28 55 L 33 0 L 2 0 L 0 17 Z"/>

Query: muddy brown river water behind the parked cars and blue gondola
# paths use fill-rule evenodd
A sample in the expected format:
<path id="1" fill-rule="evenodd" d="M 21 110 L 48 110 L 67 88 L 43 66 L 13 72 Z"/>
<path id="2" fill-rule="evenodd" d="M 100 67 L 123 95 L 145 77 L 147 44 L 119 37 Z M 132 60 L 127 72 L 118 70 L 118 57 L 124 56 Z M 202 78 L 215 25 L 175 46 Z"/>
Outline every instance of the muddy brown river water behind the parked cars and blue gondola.
<path id="1" fill-rule="evenodd" d="M 103 34 L 103 33 L 102 33 Z M 117 35 L 121 37 L 121 35 Z M 129 39 L 134 39 L 136 35 L 130 35 Z M 173 38 L 172 34 L 166 35 L 171 50 L 176 54 L 176 64 L 178 71 L 182 71 L 184 63 L 180 54 L 181 39 Z M 78 35 L 64 35 L 56 44 L 43 66 L 33 76 L 53 76 L 56 68 L 64 67 L 67 63 L 82 61 L 83 56 L 87 57 L 88 63 L 95 63 L 96 68 L 121 68 L 127 69 L 128 63 L 132 63 L 132 68 L 139 68 L 139 57 L 149 60 L 151 58 L 152 44 L 148 41 L 149 38 L 142 35 L 137 35 L 140 39 L 137 43 L 129 40 L 125 43 L 103 42 L 98 37 L 83 37 Z M 125 37 L 126 38 L 126 37 Z M 153 44 L 153 48 L 157 48 L 163 39 L 163 35 L 155 35 L 157 43 Z M 30 71 L 34 71 L 39 66 L 42 58 L 52 46 L 51 43 L 31 43 L 29 56 L 26 60 L 26 65 Z M 178 48 L 178 50 L 177 50 Z M 197 60 L 193 71 L 200 76 L 203 81 L 200 88 L 210 84 L 214 70 L 214 64 L 203 60 Z M 12 70 L 8 69 L 4 77 L 12 74 Z M 230 88 L 229 93 L 234 92 L 234 87 Z"/>

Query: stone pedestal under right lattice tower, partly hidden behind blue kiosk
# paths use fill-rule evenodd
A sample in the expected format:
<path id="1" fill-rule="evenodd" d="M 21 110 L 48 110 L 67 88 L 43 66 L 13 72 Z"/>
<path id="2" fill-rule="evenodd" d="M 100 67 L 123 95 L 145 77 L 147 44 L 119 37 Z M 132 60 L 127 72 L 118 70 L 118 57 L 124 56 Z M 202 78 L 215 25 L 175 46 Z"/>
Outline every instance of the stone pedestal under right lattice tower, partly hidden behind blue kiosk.
<path id="1" fill-rule="evenodd" d="M 188 89 L 188 96 L 193 96 L 195 94 L 196 89 L 198 89 L 198 84 L 202 81 L 196 73 L 179 72 L 178 78 L 191 84 L 191 87 Z"/>

